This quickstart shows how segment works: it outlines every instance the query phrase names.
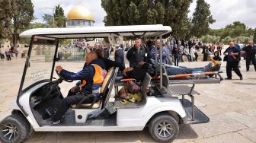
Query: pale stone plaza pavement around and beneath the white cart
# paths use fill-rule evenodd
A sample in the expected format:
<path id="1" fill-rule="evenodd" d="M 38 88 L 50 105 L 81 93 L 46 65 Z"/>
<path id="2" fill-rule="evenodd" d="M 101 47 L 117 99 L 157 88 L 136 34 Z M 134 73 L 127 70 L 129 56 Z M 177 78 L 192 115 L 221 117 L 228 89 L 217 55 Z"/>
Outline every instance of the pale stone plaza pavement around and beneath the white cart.
<path id="1" fill-rule="evenodd" d="M 207 62 L 181 63 L 188 67 L 206 64 Z M 24 59 L 0 62 L 0 119 L 11 112 L 9 106 L 11 100 L 17 96 L 23 68 Z M 74 70 L 79 68 L 82 68 L 81 64 L 77 64 Z M 222 71 L 223 78 L 226 78 L 225 62 L 222 63 Z M 195 89 L 201 94 L 195 97 L 196 105 L 210 117 L 210 122 L 181 125 L 178 138 L 174 142 L 256 142 L 256 72 L 252 66 L 246 72 L 245 61 L 242 61 L 241 71 L 243 81 L 238 80 L 238 76 L 232 72 L 232 81 L 196 85 Z M 144 129 L 142 132 L 37 132 L 25 142 L 155 141 L 148 130 Z"/>

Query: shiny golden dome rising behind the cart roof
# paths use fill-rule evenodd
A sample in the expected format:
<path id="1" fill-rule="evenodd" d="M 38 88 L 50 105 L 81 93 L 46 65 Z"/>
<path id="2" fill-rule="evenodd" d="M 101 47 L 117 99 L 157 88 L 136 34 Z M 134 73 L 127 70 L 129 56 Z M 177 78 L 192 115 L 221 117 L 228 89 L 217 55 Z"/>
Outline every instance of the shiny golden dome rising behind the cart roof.
<path id="1" fill-rule="evenodd" d="M 83 5 L 78 5 L 69 11 L 67 15 L 68 20 L 88 20 L 94 21 L 94 16 L 91 11 Z"/>

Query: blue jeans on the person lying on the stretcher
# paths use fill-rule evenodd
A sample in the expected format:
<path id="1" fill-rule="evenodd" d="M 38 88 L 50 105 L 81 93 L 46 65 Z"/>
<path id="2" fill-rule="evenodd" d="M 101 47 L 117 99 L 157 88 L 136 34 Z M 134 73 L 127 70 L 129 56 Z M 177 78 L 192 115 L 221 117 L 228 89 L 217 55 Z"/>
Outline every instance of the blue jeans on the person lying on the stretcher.
<path id="1" fill-rule="evenodd" d="M 176 66 L 166 67 L 167 75 L 181 75 L 181 74 L 192 74 L 193 72 L 208 72 L 206 68 L 182 68 Z"/>

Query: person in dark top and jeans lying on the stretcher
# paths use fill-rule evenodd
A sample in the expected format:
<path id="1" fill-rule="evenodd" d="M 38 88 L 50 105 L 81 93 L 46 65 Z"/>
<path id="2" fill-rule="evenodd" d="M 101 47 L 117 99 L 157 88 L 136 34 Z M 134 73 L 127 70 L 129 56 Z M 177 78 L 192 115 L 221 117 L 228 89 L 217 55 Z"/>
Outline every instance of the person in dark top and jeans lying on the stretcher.
<path id="1" fill-rule="evenodd" d="M 213 63 L 212 63 L 213 62 Z M 187 67 L 177 67 L 173 65 L 165 66 L 167 75 L 183 75 L 183 74 L 193 74 L 193 73 L 202 73 L 202 72 L 210 72 L 210 71 L 219 71 L 220 64 L 212 59 L 208 65 L 198 68 L 187 68 Z M 213 65 L 214 64 L 214 65 Z M 152 77 L 155 76 L 155 65 L 139 62 L 139 68 L 126 68 L 122 71 L 122 75 L 124 78 L 134 78 L 136 80 L 142 81 L 146 72 L 149 73 Z"/>

